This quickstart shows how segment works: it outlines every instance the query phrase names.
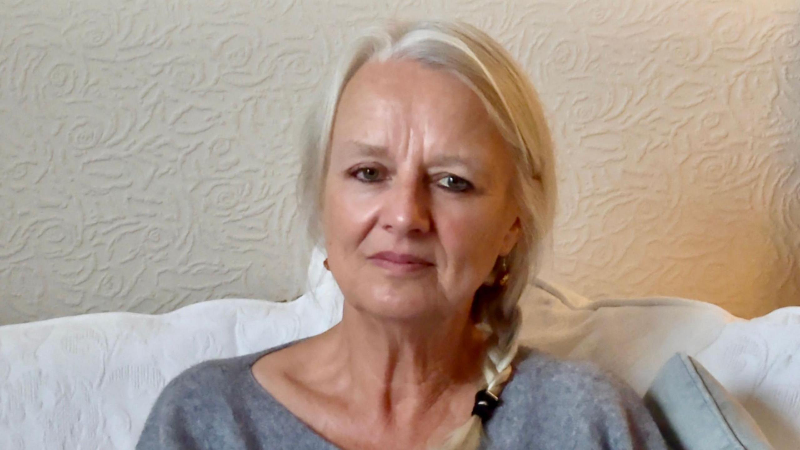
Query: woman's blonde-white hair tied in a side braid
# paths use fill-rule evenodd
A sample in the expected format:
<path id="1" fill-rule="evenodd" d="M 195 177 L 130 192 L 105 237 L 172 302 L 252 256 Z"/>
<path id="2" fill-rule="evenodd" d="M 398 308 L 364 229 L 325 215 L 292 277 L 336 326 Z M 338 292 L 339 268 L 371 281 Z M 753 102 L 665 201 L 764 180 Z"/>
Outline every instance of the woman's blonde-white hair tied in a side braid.
<path id="1" fill-rule="evenodd" d="M 487 112 L 512 149 L 516 174 L 512 191 L 522 225 L 514 249 L 506 256 L 509 279 L 504 287 L 481 287 L 473 317 L 489 332 L 483 363 L 486 389 L 499 396 L 510 378 L 520 326 L 518 300 L 539 263 L 553 227 L 556 183 L 553 147 L 538 94 L 525 72 L 494 39 L 463 22 L 387 22 L 366 30 L 343 55 L 328 90 L 319 98 L 302 128 L 303 159 L 298 194 L 314 243 L 322 245 L 322 188 L 328 164 L 330 135 L 342 90 L 368 61 L 414 60 L 446 70 L 481 98 Z M 498 268 L 495 264 L 495 269 Z M 478 448 L 482 420 L 470 416 L 440 448 Z"/>

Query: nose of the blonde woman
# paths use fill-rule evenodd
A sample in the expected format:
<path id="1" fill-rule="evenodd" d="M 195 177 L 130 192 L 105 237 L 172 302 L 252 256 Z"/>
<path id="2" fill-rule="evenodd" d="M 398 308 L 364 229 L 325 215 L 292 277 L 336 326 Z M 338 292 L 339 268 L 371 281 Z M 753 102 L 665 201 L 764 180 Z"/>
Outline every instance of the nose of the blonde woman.
<path id="1" fill-rule="evenodd" d="M 399 234 L 430 231 L 430 202 L 418 180 L 398 180 L 383 205 L 383 228 Z"/>

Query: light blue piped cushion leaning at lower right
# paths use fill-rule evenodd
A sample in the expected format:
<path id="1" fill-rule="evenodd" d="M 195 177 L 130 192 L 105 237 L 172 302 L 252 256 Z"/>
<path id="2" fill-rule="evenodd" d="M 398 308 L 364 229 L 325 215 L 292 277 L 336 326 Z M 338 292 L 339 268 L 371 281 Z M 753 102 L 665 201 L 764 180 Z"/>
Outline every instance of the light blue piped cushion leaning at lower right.
<path id="1" fill-rule="evenodd" d="M 645 396 L 675 450 L 771 450 L 745 408 L 697 360 L 678 353 Z"/>

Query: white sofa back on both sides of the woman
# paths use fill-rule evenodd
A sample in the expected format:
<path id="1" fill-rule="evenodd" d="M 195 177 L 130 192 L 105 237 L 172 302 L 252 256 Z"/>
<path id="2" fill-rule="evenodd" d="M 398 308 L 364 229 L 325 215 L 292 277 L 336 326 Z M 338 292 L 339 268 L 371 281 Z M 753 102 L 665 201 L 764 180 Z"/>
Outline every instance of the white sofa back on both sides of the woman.
<path id="1" fill-rule="evenodd" d="M 311 267 L 322 267 L 314 255 Z M 324 331 L 342 295 L 313 269 L 291 303 L 222 299 L 164 315 L 100 313 L 0 327 L 0 448 L 133 448 L 158 392 L 202 360 Z M 775 448 L 800 442 L 800 307 L 743 320 L 688 299 L 592 302 L 539 282 L 522 340 L 589 358 L 643 392 L 674 352 L 696 356 Z"/>

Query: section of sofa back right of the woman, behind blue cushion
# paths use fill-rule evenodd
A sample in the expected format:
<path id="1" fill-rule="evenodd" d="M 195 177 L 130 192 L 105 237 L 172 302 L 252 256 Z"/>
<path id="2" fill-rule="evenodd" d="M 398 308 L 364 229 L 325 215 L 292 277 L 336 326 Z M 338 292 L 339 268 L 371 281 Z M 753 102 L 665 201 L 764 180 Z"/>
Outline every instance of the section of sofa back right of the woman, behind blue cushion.
<path id="1" fill-rule="evenodd" d="M 800 307 L 739 319 L 691 299 L 590 301 L 538 281 L 522 340 L 592 360 L 643 395 L 675 352 L 694 356 L 744 405 L 776 450 L 800 448 Z"/>

